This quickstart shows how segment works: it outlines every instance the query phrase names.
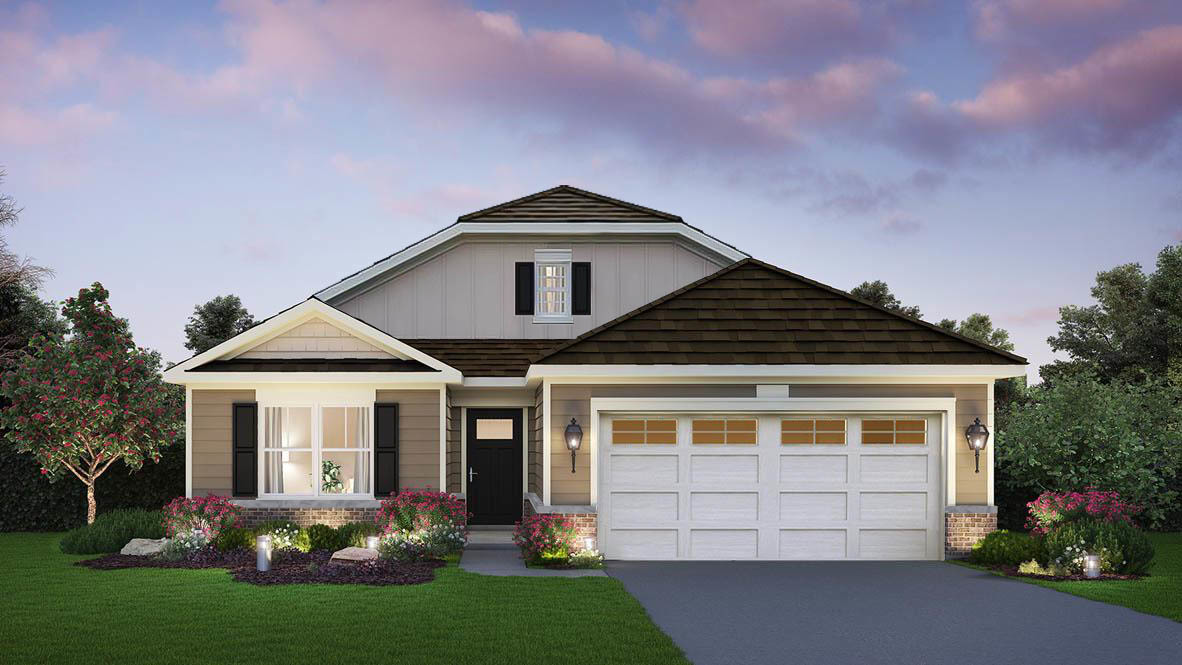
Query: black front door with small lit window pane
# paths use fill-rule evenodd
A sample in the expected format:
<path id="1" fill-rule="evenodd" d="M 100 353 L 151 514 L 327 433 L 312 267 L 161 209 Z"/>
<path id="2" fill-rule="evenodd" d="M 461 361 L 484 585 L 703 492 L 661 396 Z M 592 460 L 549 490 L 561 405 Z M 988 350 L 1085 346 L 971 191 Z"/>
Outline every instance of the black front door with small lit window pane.
<path id="1" fill-rule="evenodd" d="M 521 410 L 468 409 L 468 511 L 473 524 L 521 519 Z"/>

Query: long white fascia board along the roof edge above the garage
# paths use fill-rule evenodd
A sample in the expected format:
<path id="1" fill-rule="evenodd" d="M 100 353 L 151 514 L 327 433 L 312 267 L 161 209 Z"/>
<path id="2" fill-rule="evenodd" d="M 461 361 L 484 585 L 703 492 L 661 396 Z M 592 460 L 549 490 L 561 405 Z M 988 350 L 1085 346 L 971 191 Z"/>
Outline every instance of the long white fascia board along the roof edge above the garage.
<path id="1" fill-rule="evenodd" d="M 526 379 L 584 383 L 587 379 L 817 379 L 982 383 L 1026 376 L 1025 365 L 531 365 Z"/>

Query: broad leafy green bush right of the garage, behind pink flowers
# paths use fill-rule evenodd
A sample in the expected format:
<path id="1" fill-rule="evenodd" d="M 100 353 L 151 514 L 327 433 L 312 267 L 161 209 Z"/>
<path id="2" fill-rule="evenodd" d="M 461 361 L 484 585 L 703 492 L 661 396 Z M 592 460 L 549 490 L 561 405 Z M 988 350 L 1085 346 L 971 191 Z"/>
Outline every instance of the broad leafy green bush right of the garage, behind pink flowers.
<path id="1" fill-rule="evenodd" d="M 1180 397 L 1160 380 L 1086 374 L 1027 389 L 998 413 L 998 483 L 1019 495 L 1116 490 L 1144 508 L 1147 526 L 1158 527 L 1178 495 Z"/>

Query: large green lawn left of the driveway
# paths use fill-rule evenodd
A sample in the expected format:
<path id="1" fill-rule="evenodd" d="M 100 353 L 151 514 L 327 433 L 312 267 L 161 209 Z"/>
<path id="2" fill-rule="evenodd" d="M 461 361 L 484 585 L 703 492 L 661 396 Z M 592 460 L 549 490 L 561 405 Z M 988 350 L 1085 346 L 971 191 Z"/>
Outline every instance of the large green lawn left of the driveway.
<path id="1" fill-rule="evenodd" d="M 91 571 L 0 534 L 7 663 L 687 663 L 611 578 L 255 587 L 221 569 Z"/>

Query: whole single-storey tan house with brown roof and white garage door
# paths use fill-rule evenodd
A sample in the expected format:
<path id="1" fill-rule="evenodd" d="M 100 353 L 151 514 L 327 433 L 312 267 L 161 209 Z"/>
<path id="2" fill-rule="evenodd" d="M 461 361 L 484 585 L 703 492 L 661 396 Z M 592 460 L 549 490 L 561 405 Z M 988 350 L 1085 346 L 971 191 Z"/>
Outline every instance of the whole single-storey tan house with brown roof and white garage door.
<path id="1" fill-rule="evenodd" d="M 996 524 L 1025 359 L 572 187 L 461 216 L 165 372 L 252 521 L 576 516 L 609 559 L 942 559 Z M 577 448 L 573 451 L 569 443 Z M 978 463 L 979 462 L 979 467 Z"/>

